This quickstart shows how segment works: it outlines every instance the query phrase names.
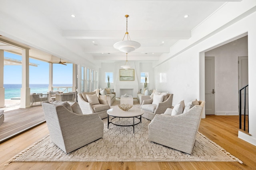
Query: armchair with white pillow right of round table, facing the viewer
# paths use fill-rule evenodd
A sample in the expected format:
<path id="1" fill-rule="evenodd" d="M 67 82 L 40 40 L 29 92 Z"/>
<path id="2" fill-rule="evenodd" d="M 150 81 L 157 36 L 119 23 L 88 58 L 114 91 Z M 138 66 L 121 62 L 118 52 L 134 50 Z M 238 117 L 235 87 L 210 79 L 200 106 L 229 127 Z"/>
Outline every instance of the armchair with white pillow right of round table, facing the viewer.
<path id="1" fill-rule="evenodd" d="M 152 120 L 156 114 L 162 114 L 167 108 L 172 108 L 173 94 L 167 94 L 163 102 L 154 104 L 153 98 L 149 100 L 143 100 L 140 108 L 144 110 L 142 117 Z"/>

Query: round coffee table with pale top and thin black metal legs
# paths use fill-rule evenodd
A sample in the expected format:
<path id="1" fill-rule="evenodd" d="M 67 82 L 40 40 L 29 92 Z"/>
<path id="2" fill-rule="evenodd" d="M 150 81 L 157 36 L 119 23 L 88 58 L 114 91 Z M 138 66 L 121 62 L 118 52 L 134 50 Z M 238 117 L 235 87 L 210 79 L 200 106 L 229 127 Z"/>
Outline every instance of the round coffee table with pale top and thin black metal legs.
<path id="1" fill-rule="evenodd" d="M 108 109 L 107 113 L 108 113 L 108 127 L 109 127 L 110 123 L 112 123 L 113 125 L 116 125 L 116 126 L 132 126 L 133 127 L 133 133 L 134 133 L 134 126 L 141 123 L 141 115 L 144 114 L 144 110 L 133 106 L 128 111 L 123 111 L 119 107 L 114 107 L 114 108 Z M 110 119 L 109 116 L 113 116 L 113 118 Z M 112 120 L 116 119 L 116 118 L 133 118 L 133 124 L 131 124 L 131 125 L 118 125 L 118 124 L 112 122 Z M 134 124 L 134 119 L 135 118 L 139 119 L 140 121 L 138 123 Z"/>

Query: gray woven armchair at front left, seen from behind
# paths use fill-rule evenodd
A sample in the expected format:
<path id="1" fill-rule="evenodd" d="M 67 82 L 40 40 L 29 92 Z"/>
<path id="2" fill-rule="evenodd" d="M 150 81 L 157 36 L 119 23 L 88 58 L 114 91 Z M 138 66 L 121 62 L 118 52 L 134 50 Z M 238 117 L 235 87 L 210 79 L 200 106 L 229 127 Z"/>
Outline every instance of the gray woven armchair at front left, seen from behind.
<path id="1" fill-rule="evenodd" d="M 97 114 L 74 113 L 67 102 L 43 102 L 42 107 L 52 142 L 66 153 L 103 137 L 104 124 Z"/>

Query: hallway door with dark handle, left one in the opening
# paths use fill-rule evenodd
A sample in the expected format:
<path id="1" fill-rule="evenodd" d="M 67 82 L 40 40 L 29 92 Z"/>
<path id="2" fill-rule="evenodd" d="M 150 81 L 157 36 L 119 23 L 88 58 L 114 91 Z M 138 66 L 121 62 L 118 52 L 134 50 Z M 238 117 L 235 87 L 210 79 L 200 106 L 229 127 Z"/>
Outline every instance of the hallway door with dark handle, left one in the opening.
<path id="1" fill-rule="evenodd" d="M 215 115 L 214 57 L 205 57 L 205 114 Z"/>

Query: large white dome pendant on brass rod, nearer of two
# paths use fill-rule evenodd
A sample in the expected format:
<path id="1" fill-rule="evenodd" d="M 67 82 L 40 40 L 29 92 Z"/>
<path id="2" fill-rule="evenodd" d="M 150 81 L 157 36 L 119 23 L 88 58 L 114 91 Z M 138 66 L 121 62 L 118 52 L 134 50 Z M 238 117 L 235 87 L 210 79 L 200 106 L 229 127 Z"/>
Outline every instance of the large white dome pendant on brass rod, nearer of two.
<path id="1" fill-rule="evenodd" d="M 122 41 L 119 41 L 114 44 L 114 48 L 118 49 L 119 51 L 122 51 L 124 53 L 130 53 L 130 52 L 134 51 L 135 49 L 139 48 L 140 43 L 138 43 L 137 41 L 131 41 L 131 38 L 127 31 L 127 23 L 128 23 L 127 18 L 129 17 L 129 15 L 125 15 L 125 17 L 126 17 L 126 33 L 124 34 L 124 38 Z M 127 36 L 127 40 L 124 40 L 126 36 Z"/>

